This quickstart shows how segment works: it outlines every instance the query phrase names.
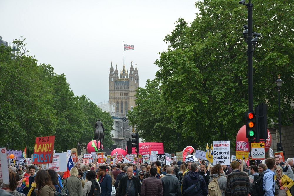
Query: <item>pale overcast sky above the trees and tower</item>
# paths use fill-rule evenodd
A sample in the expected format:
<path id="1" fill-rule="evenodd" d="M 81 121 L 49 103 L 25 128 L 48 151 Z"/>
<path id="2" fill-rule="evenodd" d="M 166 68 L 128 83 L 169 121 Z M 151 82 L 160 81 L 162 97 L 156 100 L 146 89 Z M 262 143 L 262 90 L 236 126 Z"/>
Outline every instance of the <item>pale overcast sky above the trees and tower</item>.
<path id="1" fill-rule="evenodd" d="M 111 61 L 123 68 L 123 41 L 134 45 L 125 51 L 125 67 L 137 63 L 144 88 L 178 18 L 196 19 L 195 1 L 0 0 L 0 36 L 8 42 L 23 36 L 29 56 L 65 74 L 75 95 L 106 103 Z"/>

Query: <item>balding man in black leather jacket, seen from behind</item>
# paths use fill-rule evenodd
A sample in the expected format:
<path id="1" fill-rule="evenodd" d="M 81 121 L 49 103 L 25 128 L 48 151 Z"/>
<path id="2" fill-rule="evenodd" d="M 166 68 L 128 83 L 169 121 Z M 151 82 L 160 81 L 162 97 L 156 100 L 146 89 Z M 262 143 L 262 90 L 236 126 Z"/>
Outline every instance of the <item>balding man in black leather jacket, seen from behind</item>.
<path id="1" fill-rule="evenodd" d="M 173 167 L 167 167 L 167 175 L 161 178 L 163 196 L 181 196 L 179 180 L 173 176 Z"/>

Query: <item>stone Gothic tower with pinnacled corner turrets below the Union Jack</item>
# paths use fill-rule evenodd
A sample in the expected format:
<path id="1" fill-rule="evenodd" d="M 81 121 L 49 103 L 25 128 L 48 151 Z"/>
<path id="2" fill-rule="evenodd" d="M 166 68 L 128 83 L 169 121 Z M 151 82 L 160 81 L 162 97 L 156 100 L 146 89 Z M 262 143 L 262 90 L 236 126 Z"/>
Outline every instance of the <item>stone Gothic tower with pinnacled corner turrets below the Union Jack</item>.
<path id="1" fill-rule="evenodd" d="M 131 61 L 130 71 L 126 70 L 125 65 L 118 73 L 117 64 L 115 70 L 112 62 L 109 69 L 109 104 L 115 105 L 115 112 L 127 114 L 131 107 L 135 107 L 136 90 L 139 87 L 139 74 L 137 63 L 133 68 L 133 61 Z"/>

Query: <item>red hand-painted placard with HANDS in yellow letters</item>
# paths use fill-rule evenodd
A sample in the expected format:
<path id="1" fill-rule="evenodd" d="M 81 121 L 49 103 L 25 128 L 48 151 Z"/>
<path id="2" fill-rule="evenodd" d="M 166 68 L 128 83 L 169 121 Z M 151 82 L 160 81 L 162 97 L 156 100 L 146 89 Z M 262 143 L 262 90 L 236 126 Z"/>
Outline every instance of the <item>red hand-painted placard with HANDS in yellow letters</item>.
<path id="1" fill-rule="evenodd" d="M 36 138 L 33 164 L 52 163 L 54 140 L 55 136 Z"/>

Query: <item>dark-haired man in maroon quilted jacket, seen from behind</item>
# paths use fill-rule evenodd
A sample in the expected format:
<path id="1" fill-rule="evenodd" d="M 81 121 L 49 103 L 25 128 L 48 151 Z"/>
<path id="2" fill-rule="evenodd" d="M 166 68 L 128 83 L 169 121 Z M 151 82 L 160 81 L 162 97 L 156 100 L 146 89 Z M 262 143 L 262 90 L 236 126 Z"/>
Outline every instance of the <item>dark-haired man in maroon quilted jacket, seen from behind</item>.
<path id="1" fill-rule="evenodd" d="M 162 182 L 155 176 L 157 174 L 156 167 L 150 168 L 150 176 L 143 180 L 140 196 L 162 196 Z"/>

